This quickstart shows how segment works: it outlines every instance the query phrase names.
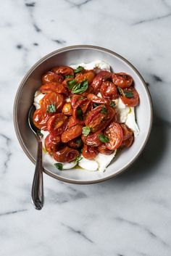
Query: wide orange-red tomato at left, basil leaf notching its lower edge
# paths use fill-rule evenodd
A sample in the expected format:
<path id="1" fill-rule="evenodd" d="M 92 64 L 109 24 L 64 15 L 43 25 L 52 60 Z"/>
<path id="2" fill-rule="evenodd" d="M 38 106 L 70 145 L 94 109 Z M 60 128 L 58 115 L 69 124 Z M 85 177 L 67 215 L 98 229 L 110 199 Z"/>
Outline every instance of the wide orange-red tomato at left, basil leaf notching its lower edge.
<path id="1" fill-rule="evenodd" d="M 54 113 L 54 110 L 56 110 L 56 112 L 60 112 L 64 105 L 64 96 L 52 91 L 43 96 L 43 99 L 40 100 L 40 104 L 41 110 L 43 110 L 43 112 L 49 111 L 49 106 L 51 105 L 53 106 L 52 113 Z"/>

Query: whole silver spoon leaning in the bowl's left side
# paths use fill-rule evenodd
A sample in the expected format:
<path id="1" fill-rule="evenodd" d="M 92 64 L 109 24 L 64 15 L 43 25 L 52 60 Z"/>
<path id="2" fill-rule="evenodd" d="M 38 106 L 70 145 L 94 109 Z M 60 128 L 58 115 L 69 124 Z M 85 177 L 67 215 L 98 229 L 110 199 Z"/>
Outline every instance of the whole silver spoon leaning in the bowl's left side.
<path id="1" fill-rule="evenodd" d="M 28 124 L 36 136 L 38 141 L 38 150 L 36 157 L 36 168 L 33 178 L 33 185 L 31 191 L 32 202 L 36 207 L 36 210 L 41 210 L 44 204 L 44 193 L 43 193 L 43 164 L 42 164 L 42 142 L 40 130 L 33 124 L 33 113 L 35 107 L 32 105 L 28 111 Z"/>

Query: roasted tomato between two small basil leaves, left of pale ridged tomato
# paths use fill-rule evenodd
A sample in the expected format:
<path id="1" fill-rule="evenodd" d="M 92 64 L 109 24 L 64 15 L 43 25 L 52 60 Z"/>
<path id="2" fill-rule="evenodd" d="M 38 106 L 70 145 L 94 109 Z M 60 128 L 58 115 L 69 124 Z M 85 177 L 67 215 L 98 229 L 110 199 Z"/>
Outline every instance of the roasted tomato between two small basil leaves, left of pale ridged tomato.
<path id="1" fill-rule="evenodd" d="M 81 139 L 83 140 L 83 143 L 88 146 L 100 146 L 102 142 L 99 139 L 99 135 L 102 133 L 97 131 L 96 133 L 89 133 L 88 136 L 81 136 Z"/>

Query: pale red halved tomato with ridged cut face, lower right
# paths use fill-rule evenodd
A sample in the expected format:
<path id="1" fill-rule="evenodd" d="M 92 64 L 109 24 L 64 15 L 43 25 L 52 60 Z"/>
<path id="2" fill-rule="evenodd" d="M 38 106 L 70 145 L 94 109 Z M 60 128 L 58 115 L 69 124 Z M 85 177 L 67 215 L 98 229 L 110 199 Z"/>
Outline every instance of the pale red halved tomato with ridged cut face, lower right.
<path id="1" fill-rule="evenodd" d="M 104 135 L 109 138 L 109 142 L 105 143 L 107 149 L 117 149 L 122 144 L 122 128 L 119 123 L 110 123 Z"/>

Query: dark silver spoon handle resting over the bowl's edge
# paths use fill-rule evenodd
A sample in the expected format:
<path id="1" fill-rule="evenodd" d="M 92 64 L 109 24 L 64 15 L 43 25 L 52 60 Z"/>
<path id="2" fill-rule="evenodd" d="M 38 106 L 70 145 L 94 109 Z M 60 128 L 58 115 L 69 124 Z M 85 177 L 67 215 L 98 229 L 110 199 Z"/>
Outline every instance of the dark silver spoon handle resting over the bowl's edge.
<path id="1" fill-rule="evenodd" d="M 38 151 L 36 158 L 36 168 L 33 178 L 31 197 L 36 210 L 41 210 L 44 204 L 43 194 L 43 164 L 42 164 L 42 142 L 39 136 L 36 136 L 38 141 Z"/>

